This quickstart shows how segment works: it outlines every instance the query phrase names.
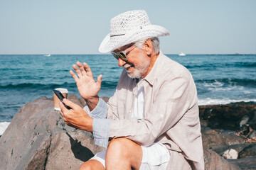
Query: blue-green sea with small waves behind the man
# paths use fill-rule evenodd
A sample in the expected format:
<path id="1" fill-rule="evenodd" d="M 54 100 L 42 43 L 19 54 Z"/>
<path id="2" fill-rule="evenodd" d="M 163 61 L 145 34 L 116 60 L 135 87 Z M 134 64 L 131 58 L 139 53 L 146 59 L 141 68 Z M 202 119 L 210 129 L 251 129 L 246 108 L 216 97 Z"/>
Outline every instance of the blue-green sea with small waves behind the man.
<path id="1" fill-rule="evenodd" d="M 167 56 L 193 75 L 200 106 L 256 102 L 256 55 Z M 99 96 L 114 94 L 122 68 L 112 55 L 0 55 L 0 135 L 21 106 L 52 97 L 55 88 L 80 97 L 69 73 L 77 61 L 90 66 L 95 80 L 102 74 Z"/>

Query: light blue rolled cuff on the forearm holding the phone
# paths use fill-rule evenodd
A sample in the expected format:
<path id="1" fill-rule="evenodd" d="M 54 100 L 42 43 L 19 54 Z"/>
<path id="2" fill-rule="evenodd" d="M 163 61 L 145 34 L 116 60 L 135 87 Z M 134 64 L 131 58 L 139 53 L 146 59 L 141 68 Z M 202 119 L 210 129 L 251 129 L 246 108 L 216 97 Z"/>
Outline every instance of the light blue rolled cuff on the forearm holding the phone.
<path id="1" fill-rule="evenodd" d="M 95 137 L 95 145 L 107 148 L 110 135 L 110 119 L 94 118 L 92 122 L 93 136 Z"/>

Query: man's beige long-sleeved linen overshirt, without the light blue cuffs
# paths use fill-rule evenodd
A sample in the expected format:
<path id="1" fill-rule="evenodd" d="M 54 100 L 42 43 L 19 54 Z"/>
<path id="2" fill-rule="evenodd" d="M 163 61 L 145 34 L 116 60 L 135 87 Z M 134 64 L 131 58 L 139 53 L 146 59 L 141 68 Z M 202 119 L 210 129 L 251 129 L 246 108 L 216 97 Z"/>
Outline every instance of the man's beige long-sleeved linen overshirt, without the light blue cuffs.
<path id="1" fill-rule="evenodd" d="M 132 120 L 138 86 L 144 86 L 142 120 Z M 191 73 L 161 52 L 149 74 L 137 84 L 124 69 L 109 100 L 110 138 L 126 137 L 142 146 L 165 145 L 168 169 L 204 169 L 196 85 Z"/>

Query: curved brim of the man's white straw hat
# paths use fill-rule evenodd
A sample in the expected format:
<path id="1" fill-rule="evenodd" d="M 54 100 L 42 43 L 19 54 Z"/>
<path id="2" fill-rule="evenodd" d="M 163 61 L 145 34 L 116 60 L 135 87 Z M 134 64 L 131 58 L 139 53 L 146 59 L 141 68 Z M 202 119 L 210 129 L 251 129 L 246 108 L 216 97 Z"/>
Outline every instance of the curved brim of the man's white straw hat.
<path id="1" fill-rule="evenodd" d="M 111 42 L 111 37 L 109 33 L 106 35 L 104 40 L 102 40 L 99 51 L 102 53 L 107 53 L 132 42 L 167 35 L 170 35 L 170 33 L 168 30 L 166 30 L 166 28 L 156 25 L 149 25 L 130 30 L 129 33 L 122 35 L 122 38 L 120 38 L 117 42 L 113 43 Z"/>

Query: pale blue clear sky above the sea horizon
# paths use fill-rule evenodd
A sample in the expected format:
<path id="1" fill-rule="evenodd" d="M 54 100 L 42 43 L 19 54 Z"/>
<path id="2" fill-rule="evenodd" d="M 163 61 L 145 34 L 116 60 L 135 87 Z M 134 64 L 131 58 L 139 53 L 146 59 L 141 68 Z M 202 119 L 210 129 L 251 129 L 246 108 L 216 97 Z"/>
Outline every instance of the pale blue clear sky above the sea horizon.
<path id="1" fill-rule="evenodd" d="M 0 0 L 0 54 L 99 54 L 119 13 L 144 9 L 168 54 L 256 54 L 256 1 Z"/>

